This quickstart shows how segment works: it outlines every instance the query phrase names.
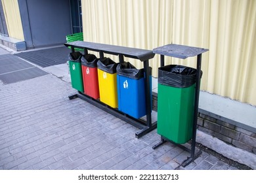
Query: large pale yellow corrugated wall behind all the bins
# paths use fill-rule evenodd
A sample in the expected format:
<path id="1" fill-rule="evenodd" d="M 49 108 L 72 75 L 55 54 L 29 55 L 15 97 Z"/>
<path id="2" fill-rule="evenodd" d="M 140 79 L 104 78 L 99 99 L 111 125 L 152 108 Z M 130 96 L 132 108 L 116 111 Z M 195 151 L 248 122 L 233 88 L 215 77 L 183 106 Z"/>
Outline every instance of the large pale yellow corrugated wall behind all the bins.
<path id="1" fill-rule="evenodd" d="M 201 90 L 256 105 L 255 0 L 82 0 L 82 12 L 85 41 L 208 48 Z M 196 58 L 166 60 L 196 67 Z M 153 76 L 159 62 L 158 55 L 150 60 Z"/>

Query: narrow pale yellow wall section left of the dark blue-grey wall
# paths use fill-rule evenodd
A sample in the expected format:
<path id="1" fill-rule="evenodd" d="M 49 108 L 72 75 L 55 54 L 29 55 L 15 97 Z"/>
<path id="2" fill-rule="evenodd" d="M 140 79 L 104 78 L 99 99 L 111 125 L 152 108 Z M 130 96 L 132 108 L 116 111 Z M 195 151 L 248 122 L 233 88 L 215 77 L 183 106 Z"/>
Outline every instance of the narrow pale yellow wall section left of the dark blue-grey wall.
<path id="1" fill-rule="evenodd" d="M 9 37 L 24 41 L 22 22 L 20 19 L 20 10 L 18 0 L 1 0 Z"/>

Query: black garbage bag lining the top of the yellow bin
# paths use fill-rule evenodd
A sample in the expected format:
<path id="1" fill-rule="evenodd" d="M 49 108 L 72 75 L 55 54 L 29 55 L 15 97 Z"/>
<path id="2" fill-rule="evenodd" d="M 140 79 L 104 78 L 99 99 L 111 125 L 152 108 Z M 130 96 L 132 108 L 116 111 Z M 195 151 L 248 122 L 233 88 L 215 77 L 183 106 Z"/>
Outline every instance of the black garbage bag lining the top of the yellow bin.
<path id="1" fill-rule="evenodd" d="M 105 71 L 106 73 L 116 73 L 117 63 L 110 58 L 100 58 L 97 62 L 98 69 Z"/>

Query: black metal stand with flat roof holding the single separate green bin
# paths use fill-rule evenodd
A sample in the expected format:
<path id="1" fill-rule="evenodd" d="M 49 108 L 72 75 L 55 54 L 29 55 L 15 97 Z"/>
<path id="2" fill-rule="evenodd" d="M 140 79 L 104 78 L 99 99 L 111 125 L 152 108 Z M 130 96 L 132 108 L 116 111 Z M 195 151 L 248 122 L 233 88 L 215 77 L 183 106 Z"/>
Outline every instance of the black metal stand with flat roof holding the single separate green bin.
<path id="1" fill-rule="evenodd" d="M 194 119 L 193 119 L 191 149 L 186 148 L 181 144 L 176 144 L 175 142 L 172 142 L 171 140 L 166 139 L 163 136 L 161 136 L 161 142 L 153 146 L 153 149 L 156 149 L 159 146 L 161 146 L 163 143 L 169 141 L 169 142 L 172 142 L 173 144 L 176 144 L 177 146 L 180 146 L 184 150 L 190 152 L 190 157 L 188 157 L 188 159 L 182 162 L 182 167 L 186 167 L 186 165 L 189 165 L 192 161 L 194 161 L 194 159 L 198 158 L 198 156 L 202 154 L 201 151 L 195 153 L 196 127 L 197 127 L 197 120 L 198 120 L 198 103 L 199 103 L 199 93 L 200 93 L 200 71 L 201 71 L 202 53 L 207 51 L 208 50 L 204 48 L 196 48 L 196 47 L 184 46 L 179 44 L 167 44 L 165 46 L 160 46 L 153 50 L 154 54 L 160 54 L 161 67 L 165 65 L 164 56 L 170 56 L 173 58 L 181 58 L 181 59 L 198 56 L 197 67 L 196 67 L 197 75 L 196 75 L 196 91 L 195 91 L 195 98 L 194 98 Z"/>

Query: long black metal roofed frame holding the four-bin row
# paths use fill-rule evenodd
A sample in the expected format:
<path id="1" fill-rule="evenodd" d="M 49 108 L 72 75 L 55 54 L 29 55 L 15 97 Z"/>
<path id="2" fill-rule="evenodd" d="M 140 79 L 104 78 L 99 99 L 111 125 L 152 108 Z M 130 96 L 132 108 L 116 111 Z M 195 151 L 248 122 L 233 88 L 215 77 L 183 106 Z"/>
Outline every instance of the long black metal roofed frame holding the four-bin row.
<path id="1" fill-rule="evenodd" d="M 139 132 L 135 133 L 135 137 L 140 138 L 146 133 L 152 131 L 153 129 L 156 129 L 156 122 L 152 123 L 152 110 L 151 110 L 151 101 L 150 101 L 150 67 L 148 60 L 154 58 L 155 54 L 152 52 L 152 50 L 142 50 L 138 48 L 129 48 L 124 46 L 114 46 L 110 44 L 100 44 L 95 42 L 85 42 L 85 41 L 74 41 L 74 42 L 68 42 L 64 44 L 65 46 L 70 46 L 72 49 L 72 52 L 75 51 L 75 48 L 82 48 L 84 50 L 84 54 L 88 54 L 88 50 L 91 50 L 93 52 L 99 52 L 100 58 L 104 58 L 105 54 L 112 54 L 119 56 L 119 63 L 124 62 L 124 57 L 127 58 L 134 58 L 139 59 L 144 64 L 144 72 L 145 72 L 145 97 L 146 97 L 146 120 L 142 120 L 141 118 L 136 119 L 132 116 L 129 116 L 128 114 L 125 114 L 121 111 L 119 111 L 117 108 L 112 108 L 104 103 L 102 103 L 98 99 L 93 99 L 92 97 L 89 97 L 88 95 L 85 95 L 84 93 L 81 93 L 77 91 L 78 93 L 75 95 L 68 96 L 69 99 L 74 99 L 76 97 L 79 97 L 93 105 L 95 105 L 98 108 L 101 108 L 102 110 L 105 110 L 106 112 L 116 116 L 117 118 L 120 118 L 121 120 L 134 125 L 135 127 L 138 127 L 141 129 Z"/>

